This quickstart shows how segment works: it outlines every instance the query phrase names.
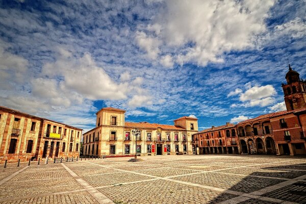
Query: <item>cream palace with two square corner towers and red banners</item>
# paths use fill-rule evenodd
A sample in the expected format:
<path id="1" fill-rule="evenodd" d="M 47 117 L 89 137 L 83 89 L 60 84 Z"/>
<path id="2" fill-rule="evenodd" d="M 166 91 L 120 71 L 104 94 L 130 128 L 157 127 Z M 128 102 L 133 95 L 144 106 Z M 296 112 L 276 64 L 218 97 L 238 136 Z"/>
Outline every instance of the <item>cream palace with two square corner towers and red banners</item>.
<path id="1" fill-rule="evenodd" d="M 83 155 L 149 156 L 195 154 L 192 135 L 198 131 L 197 119 L 181 117 L 174 125 L 148 122 L 125 122 L 125 111 L 102 108 L 96 113 L 96 127 L 83 134 Z M 136 138 L 132 131 L 140 130 Z"/>

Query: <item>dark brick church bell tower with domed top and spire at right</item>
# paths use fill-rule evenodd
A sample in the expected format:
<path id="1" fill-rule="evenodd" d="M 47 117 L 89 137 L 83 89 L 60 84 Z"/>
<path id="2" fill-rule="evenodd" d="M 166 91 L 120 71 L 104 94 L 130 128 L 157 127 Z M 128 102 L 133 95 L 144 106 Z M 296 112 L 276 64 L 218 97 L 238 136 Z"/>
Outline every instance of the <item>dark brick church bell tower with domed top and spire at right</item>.
<path id="1" fill-rule="evenodd" d="M 306 108 L 306 81 L 300 80 L 299 73 L 292 70 L 286 74 L 287 84 L 282 83 L 287 111 Z"/>

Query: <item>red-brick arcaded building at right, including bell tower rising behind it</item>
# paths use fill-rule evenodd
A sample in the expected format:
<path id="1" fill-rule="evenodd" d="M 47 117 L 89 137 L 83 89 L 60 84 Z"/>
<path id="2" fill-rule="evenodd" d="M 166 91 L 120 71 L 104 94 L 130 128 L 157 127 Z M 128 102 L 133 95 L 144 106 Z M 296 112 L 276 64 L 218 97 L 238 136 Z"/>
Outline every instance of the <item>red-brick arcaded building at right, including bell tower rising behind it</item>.
<path id="1" fill-rule="evenodd" d="M 238 149 L 239 154 L 306 155 L 306 82 L 290 65 L 285 78 L 287 84 L 282 87 L 287 111 L 198 132 L 194 136 L 199 137 L 200 152 L 231 154 Z M 237 136 L 233 138 L 234 133 Z M 225 148 L 231 142 L 229 138 L 237 142 L 233 151 Z"/>

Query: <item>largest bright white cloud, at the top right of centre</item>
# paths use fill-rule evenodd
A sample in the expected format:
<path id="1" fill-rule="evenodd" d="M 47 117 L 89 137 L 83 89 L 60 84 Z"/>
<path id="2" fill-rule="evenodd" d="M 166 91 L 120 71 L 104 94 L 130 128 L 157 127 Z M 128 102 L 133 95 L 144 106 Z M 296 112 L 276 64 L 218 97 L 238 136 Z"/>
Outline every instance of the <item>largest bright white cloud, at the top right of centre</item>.
<path id="1" fill-rule="evenodd" d="M 273 4 L 272 0 L 166 1 L 166 9 L 155 18 L 161 28 L 153 29 L 153 23 L 146 29 L 157 30 L 158 36 L 151 38 L 138 31 L 136 39 L 152 59 L 160 53 L 160 39 L 168 49 L 179 50 L 175 59 L 181 65 L 220 63 L 224 52 L 256 43 L 254 36 L 266 31 L 265 18 Z"/>

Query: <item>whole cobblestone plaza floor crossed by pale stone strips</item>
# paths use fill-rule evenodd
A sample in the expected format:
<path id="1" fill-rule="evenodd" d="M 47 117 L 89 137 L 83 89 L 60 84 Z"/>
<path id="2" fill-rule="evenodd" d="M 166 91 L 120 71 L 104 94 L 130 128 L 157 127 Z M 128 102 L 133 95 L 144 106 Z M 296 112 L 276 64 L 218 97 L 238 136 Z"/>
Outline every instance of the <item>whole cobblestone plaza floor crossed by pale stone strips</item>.
<path id="1" fill-rule="evenodd" d="M 199 155 L 16 163 L 1 203 L 306 203 L 306 158 Z"/>

